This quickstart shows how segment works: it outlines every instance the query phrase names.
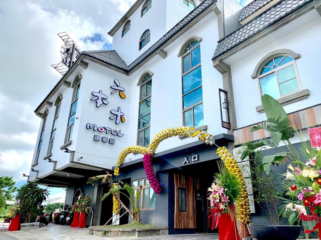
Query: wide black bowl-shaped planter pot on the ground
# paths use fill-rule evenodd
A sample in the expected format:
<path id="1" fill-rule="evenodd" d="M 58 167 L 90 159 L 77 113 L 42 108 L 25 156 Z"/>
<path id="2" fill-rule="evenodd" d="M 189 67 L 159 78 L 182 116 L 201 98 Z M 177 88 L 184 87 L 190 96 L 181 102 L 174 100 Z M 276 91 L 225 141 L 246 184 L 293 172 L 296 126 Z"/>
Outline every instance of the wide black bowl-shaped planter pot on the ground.
<path id="1" fill-rule="evenodd" d="M 257 240 L 296 240 L 302 228 L 290 225 L 247 225 L 247 227 Z"/>

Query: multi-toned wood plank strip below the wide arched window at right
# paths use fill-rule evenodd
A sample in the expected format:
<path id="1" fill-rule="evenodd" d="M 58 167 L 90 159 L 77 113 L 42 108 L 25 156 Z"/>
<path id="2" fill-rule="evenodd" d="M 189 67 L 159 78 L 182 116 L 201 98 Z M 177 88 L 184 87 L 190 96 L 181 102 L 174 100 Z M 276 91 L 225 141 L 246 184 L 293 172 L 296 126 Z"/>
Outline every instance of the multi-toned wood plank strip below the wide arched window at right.
<path id="1" fill-rule="evenodd" d="M 291 122 L 291 127 L 296 127 L 298 130 L 319 126 L 321 125 L 321 104 L 298 112 L 290 113 L 288 116 Z M 251 126 L 234 130 L 233 134 L 235 145 L 270 137 L 270 134 L 263 129 L 251 133 L 251 128 L 255 125 L 256 124 L 253 124 Z"/>

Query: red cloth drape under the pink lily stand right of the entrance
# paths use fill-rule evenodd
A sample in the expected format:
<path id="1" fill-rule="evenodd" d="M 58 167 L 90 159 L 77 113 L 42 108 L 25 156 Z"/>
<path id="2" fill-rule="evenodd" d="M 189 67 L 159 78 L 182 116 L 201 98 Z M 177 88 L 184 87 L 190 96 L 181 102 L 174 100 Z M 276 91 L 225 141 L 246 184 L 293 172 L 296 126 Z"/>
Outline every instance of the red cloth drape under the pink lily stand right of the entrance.
<path id="1" fill-rule="evenodd" d="M 230 208 L 235 213 L 233 204 L 231 204 Z M 228 212 L 222 213 L 219 218 L 219 240 L 240 240 L 236 219 L 235 217 L 232 219 Z"/>

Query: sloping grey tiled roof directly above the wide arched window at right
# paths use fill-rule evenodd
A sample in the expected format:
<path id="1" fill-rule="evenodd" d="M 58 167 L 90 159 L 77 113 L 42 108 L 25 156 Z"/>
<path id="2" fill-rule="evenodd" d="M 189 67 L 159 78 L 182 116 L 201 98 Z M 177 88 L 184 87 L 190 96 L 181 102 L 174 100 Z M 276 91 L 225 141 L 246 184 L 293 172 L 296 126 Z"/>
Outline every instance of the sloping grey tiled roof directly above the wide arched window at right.
<path id="1" fill-rule="evenodd" d="M 254 37 L 313 0 L 283 0 L 218 41 L 212 60 Z"/>

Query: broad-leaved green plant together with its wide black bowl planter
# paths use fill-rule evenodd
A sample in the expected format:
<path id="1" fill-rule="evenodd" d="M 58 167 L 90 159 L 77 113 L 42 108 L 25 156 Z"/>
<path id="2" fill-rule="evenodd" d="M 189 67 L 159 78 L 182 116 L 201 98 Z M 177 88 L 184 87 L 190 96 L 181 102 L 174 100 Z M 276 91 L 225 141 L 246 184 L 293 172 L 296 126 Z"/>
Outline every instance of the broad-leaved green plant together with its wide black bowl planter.
<path id="1" fill-rule="evenodd" d="M 290 138 L 294 136 L 295 130 L 291 127 L 288 115 L 281 104 L 269 95 L 262 95 L 261 100 L 267 120 L 251 128 L 251 132 L 264 129 L 270 133 L 271 138 L 264 138 L 254 142 L 252 149 L 245 149 L 242 152 L 241 160 L 244 160 L 249 154 L 253 153 L 253 149 L 259 147 L 267 145 L 279 148 L 282 141 L 288 151 L 280 148 L 280 153 L 267 155 L 262 159 L 262 169 L 268 175 L 271 165 L 279 165 L 285 160 L 292 162 L 300 161 L 300 157 L 290 142 Z M 248 225 L 248 229 L 258 240 L 271 239 L 275 236 L 280 236 L 284 240 L 294 240 L 299 236 L 301 226 Z"/>

